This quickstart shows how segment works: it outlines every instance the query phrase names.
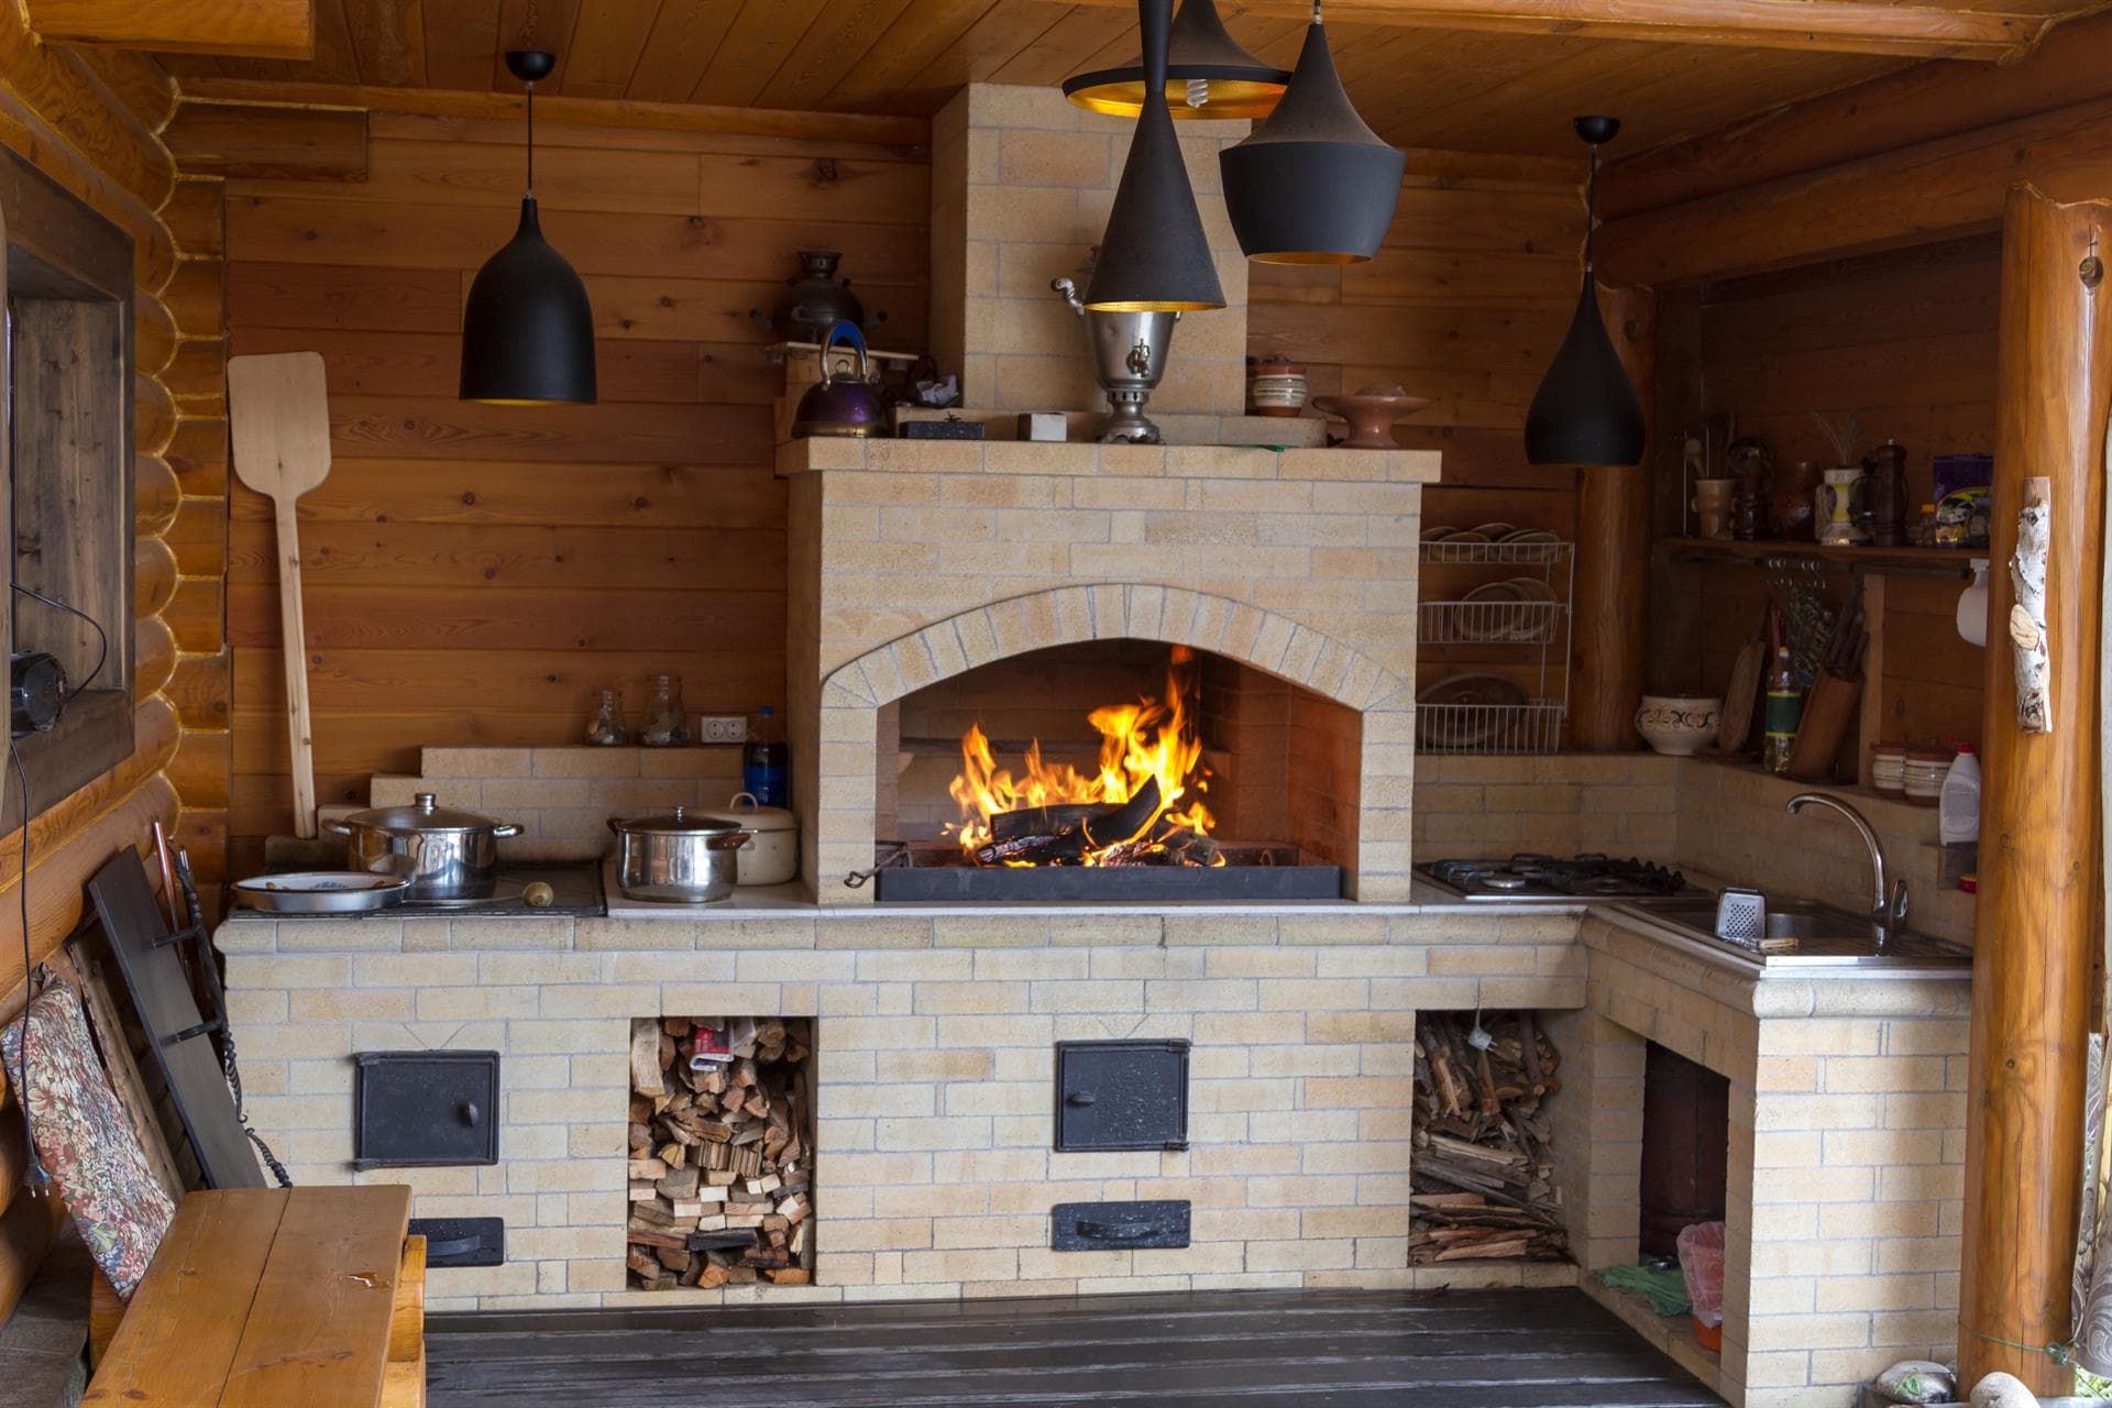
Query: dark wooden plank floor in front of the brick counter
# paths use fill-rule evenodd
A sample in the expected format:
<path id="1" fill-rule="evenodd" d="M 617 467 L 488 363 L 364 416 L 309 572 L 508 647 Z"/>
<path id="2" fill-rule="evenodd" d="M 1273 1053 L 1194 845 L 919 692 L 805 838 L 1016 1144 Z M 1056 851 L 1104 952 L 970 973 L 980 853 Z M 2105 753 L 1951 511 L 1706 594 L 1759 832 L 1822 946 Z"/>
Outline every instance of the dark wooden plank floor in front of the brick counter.
<path id="1" fill-rule="evenodd" d="M 433 1317 L 431 1408 L 1721 1408 L 1573 1290 Z"/>

